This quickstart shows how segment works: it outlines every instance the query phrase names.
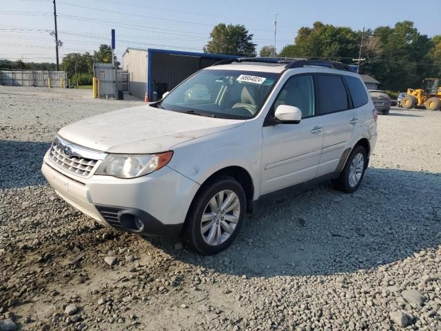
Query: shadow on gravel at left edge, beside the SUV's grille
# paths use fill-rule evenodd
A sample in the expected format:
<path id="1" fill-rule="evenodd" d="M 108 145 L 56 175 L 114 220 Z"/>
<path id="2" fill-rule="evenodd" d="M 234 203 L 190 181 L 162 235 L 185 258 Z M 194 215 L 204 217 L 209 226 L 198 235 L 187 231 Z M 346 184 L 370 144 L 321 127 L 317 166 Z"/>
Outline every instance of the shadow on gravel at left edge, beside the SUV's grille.
<path id="1" fill-rule="evenodd" d="M 50 143 L 0 140 L 0 189 L 46 183 L 41 163 Z"/>

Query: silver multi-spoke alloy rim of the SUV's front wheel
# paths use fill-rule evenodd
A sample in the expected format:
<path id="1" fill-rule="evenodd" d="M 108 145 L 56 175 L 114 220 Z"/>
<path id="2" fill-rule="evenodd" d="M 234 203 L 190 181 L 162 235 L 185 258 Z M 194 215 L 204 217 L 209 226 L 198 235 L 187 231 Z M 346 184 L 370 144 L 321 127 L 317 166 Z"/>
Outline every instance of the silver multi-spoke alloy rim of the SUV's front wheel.
<path id="1" fill-rule="evenodd" d="M 201 219 L 202 238 L 208 245 L 224 243 L 236 230 L 240 201 L 236 193 L 222 190 L 209 199 Z"/>

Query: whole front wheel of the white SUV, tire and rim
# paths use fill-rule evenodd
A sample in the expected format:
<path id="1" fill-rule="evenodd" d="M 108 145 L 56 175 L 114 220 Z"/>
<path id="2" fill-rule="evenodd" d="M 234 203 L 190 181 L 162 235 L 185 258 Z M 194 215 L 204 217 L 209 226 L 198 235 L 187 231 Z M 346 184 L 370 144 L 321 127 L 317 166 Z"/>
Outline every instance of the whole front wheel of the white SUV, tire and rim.
<path id="1" fill-rule="evenodd" d="M 203 255 L 225 250 L 243 223 L 246 201 L 242 186 L 231 177 L 205 186 L 190 206 L 183 230 L 184 242 Z"/>

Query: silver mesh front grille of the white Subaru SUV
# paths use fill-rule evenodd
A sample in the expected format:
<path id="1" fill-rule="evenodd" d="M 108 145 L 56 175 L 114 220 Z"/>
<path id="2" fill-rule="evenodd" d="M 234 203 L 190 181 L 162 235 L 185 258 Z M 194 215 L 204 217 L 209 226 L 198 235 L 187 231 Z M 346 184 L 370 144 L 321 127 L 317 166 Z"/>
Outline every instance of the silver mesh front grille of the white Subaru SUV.
<path id="1" fill-rule="evenodd" d="M 78 155 L 69 156 L 65 154 L 66 146 L 59 139 L 56 138 L 54 140 L 52 146 L 50 146 L 50 159 L 52 162 L 72 174 L 88 177 L 90 172 L 94 170 L 98 160 L 86 159 Z"/>

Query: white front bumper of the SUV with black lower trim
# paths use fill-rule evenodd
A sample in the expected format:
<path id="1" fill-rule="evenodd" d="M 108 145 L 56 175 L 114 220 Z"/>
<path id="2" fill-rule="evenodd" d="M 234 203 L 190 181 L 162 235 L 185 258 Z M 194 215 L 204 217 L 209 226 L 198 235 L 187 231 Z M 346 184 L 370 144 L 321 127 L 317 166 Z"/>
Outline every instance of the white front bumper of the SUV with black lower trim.
<path id="1" fill-rule="evenodd" d="M 76 177 L 54 165 L 46 153 L 41 172 L 61 198 L 99 223 L 141 235 L 176 235 L 181 231 L 199 184 L 165 166 L 147 176 L 119 179 Z M 131 226 L 138 217 L 142 230 Z"/>

